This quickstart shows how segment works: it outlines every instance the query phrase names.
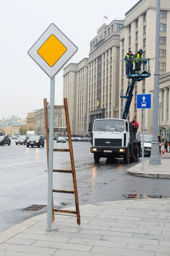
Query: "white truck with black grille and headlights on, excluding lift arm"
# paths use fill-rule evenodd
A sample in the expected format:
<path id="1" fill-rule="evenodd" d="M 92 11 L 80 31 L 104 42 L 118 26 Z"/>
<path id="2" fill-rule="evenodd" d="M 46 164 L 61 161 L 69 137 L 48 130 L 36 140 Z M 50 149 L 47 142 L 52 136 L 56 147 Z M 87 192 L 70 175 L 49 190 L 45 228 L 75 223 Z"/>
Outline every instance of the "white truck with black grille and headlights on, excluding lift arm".
<path id="1" fill-rule="evenodd" d="M 91 153 L 95 162 L 101 157 L 122 158 L 124 163 L 140 157 L 140 141 L 130 140 L 129 122 L 125 119 L 95 119 L 92 131 Z"/>

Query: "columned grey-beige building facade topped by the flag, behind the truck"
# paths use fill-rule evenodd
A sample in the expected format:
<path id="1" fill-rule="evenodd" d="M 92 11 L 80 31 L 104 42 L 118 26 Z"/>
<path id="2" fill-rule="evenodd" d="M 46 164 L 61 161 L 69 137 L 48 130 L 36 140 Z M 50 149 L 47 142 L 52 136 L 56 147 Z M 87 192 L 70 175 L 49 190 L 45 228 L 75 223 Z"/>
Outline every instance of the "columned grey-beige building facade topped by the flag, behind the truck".
<path id="1" fill-rule="evenodd" d="M 87 123 L 119 117 L 119 41 L 123 26 L 124 20 L 103 24 L 90 42 Z"/>

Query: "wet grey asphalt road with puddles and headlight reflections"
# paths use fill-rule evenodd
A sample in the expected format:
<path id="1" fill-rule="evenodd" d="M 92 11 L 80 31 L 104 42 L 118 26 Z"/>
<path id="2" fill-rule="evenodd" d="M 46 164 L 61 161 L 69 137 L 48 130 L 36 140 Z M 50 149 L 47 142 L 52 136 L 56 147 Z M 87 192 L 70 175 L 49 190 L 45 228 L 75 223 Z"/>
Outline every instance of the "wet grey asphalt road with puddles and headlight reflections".
<path id="1" fill-rule="evenodd" d="M 90 143 L 73 142 L 79 204 L 124 200 L 125 194 L 170 195 L 169 180 L 133 177 L 126 169 L 136 163 L 110 163 L 101 159 L 94 163 Z M 54 147 L 68 148 L 68 143 Z M 147 160 L 148 158 L 145 157 Z M 140 162 L 141 160 L 139 160 Z M 69 169 L 69 153 L 54 152 L 54 168 Z M 33 204 L 47 205 L 46 148 L 27 148 L 26 145 L 0 146 L 0 232 L 34 215 L 46 212 L 26 212 Z M 53 188 L 73 189 L 72 175 L 54 173 Z M 71 203 L 74 195 L 54 193 L 54 205 Z"/>

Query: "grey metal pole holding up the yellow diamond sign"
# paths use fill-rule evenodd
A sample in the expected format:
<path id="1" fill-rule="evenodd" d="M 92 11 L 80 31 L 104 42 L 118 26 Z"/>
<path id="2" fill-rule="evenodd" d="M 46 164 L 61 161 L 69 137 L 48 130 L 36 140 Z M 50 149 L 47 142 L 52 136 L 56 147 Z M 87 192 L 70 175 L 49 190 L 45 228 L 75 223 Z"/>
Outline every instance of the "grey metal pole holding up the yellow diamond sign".
<path id="1" fill-rule="evenodd" d="M 47 231 L 51 231 L 52 193 L 53 193 L 53 148 L 54 148 L 54 93 L 55 77 L 50 80 L 50 122 L 49 122 L 49 157 L 48 157 L 48 205 Z"/>

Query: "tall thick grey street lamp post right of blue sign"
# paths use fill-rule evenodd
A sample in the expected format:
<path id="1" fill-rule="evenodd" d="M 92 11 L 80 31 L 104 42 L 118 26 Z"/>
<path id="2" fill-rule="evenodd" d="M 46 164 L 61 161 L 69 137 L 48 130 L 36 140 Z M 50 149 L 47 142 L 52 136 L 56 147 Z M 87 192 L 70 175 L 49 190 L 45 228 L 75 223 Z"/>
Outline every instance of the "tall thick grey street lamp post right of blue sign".
<path id="1" fill-rule="evenodd" d="M 158 143 L 158 111 L 159 111 L 159 30 L 160 30 L 161 0 L 156 0 L 156 47 L 155 47 L 155 73 L 153 98 L 153 139 L 149 164 L 161 164 Z"/>

